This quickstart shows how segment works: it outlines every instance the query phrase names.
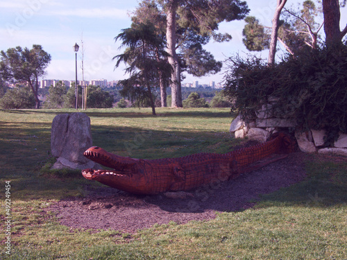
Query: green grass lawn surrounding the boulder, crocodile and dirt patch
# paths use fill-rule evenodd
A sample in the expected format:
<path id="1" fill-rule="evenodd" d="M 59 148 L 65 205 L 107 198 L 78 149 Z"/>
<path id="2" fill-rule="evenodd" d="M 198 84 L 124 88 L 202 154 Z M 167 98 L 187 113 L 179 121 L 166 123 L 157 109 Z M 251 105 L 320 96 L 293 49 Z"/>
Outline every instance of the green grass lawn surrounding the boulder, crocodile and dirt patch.
<path id="1" fill-rule="evenodd" d="M 347 160 L 305 156 L 307 179 L 214 220 L 155 225 L 137 234 L 60 225 L 44 209 L 83 186 L 78 172 L 50 173 L 51 122 L 75 110 L 0 110 L 0 259 L 347 259 Z M 240 144 L 228 109 L 87 110 L 93 144 L 135 158 L 226 153 Z M 66 177 L 57 177 L 57 175 Z M 11 254 L 6 254 L 10 181 Z"/>

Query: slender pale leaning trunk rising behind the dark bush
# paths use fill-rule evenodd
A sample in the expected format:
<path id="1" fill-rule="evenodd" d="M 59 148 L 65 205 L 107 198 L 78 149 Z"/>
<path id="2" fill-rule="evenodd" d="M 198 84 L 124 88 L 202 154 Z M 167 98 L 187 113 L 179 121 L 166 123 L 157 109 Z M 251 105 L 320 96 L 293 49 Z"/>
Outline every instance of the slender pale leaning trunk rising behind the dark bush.
<path id="1" fill-rule="evenodd" d="M 277 7 L 275 10 L 275 14 L 273 15 L 271 42 L 270 42 L 269 60 L 268 60 L 269 66 L 271 66 L 275 63 L 276 46 L 277 46 L 277 40 L 278 40 L 278 28 L 279 28 L 279 22 L 280 22 L 280 13 L 282 11 L 282 8 L 285 6 L 285 3 L 287 3 L 287 0 L 277 0 Z"/>

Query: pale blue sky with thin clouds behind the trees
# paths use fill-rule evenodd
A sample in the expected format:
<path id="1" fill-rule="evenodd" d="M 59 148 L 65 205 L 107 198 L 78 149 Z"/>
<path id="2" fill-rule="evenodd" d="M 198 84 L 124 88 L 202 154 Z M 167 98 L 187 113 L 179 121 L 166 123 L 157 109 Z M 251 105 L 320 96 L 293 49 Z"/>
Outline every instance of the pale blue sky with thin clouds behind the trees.
<path id="1" fill-rule="evenodd" d="M 298 1 L 292 1 L 297 3 Z M 254 15 L 264 25 L 271 26 L 276 0 L 247 1 Z M 287 6 L 291 5 L 288 1 Z M 85 80 L 126 78 L 124 67 L 114 70 L 112 57 L 120 54 L 119 43 L 115 43 L 121 29 L 130 27 L 130 13 L 138 6 L 137 0 L 1 0 L 0 2 L 0 50 L 15 46 L 42 45 L 51 54 L 51 63 L 46 69 L 46 79 L 73 80 L 75 77 L 75 53 L 72 46 L 84 42 Z M 347 8 L 341 8 L 341 28 L 346 25 Z M 230 42 L 211 41 L 205 47 L 217 60 L 239 53 L 248 53 L 242 44 L 244 21 L 222 23 L 219 32 L 232 35 Z M 282 47 L 281 47 L 282 48 Z M 268 51 L 262 57 L 267 58 Z M 78 80 L 82 79 L 81 49 L 78 51 Z M 216 83 L 223 78 L 217 75 L 194 78 L 186 75 L 183 83 L 198 80 L 199 83 Z"/>

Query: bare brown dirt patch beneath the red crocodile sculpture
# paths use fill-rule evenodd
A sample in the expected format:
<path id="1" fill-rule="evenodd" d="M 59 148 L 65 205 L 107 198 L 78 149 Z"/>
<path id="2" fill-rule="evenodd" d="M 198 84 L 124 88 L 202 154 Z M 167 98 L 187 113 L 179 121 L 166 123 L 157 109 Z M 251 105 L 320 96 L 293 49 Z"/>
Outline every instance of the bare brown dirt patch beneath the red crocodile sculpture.
<path id="1" fill-rule="evenodd" d="M 300 182 L 305 177 L 303 153 L 273 162 L 239 176 L 235 180 L 214 183 L 180 194 L 182 198 L 136 196 L 110 187 L 85 187 L 85 198 L 60 200 L 47 210 L 55 211 L 60 223 L 72 228 L 115 229 L 134 233 L 155 223 L 215 218 L 216 211 L 239 211 L 253 207 L 260 194 Z"/>

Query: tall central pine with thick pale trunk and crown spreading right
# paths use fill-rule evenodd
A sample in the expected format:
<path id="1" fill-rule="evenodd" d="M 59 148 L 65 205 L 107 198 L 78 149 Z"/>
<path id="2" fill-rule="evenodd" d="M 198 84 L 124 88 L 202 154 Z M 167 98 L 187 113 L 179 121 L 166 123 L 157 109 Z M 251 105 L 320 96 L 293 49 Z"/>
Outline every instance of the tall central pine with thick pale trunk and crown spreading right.
<path id="1" fill-rule="evenodd" d="M 248 13 L 245 1 L 239 0 L 158 0 L 167 15 L 167 52 L 171 73 L 171 106 L 182 107 L 180 62 L 177 49 L 178 22 L 183 28 L 193 28 L 196 34 L 213 35 L 214 40 L 230 40 L 230 35 L 214 33 L 221 21 L 243 19 Z M 184 24 L 184 26 L 182 26 Z"/>

